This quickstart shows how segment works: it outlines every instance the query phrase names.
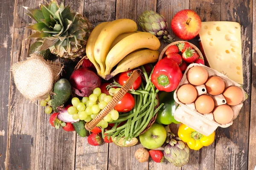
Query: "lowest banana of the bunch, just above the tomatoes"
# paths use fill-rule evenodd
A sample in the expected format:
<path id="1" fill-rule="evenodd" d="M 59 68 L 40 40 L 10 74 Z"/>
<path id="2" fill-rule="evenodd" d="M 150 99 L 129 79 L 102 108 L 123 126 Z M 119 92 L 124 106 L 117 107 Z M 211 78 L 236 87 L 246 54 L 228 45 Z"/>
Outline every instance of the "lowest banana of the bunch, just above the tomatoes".
<path id="1" fill-rule="evenodd" d="M 131 70 L 133 68 L 139 67 L 140 65 L 157 62 L 159 57 L 159 52 L 155 50 L 140 50 L 133 52 L 123 58 L 117 65 L 116 69 L 111 72 L 111 74 L 106 75 L 106 79 L 111 79 L 116 74 Z"/>

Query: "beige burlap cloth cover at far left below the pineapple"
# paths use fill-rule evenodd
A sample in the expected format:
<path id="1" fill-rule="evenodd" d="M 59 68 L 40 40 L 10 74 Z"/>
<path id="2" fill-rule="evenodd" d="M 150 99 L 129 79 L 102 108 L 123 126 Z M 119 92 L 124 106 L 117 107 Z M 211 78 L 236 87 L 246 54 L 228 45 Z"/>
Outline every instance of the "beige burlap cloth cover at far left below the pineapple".
<path id="1" fill-rule="evenodd" d="M 61 63 L 45 61 L 37 54 L 30 56 L 12 65 L 12 73 L 20 93 L 34 102 L 36 99 L 45 99 L 52 92 L 53 84 L 61 73 Z"/>

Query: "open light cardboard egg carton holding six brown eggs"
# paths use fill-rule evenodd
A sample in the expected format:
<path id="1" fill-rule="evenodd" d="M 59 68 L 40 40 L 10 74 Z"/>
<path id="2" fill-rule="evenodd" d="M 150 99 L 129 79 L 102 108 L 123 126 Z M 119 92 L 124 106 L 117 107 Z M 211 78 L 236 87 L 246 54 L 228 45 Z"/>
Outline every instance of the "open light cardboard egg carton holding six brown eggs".
<path id="1" fill-rule="evenodd" d="M 227 124 L 219 124 L 218 122 L 215 122 L 213 113 L 208 113 L 208 114 L 201 114 L 195 109 L 195 102 L 191 104 L 184 104 L 180 102 L 180 100 L 177 98 L 177 90 L 180 88 L 180 86 L 184 84 L 190 84 L 189 81 L 186 78 L 186 74 L 189 71 L 190 68 L 194 66 L 201 66 L 205 68 L 208 72 L 208 78 L 212 76 L 218 76 L 221 77 L 224 82 L 225 82 L 225 89 L 229 86 L 237 86 L 239 87 L 244 96 L 242 102 L 246 99 L 245 98 L 245 91 L 241 88 L 241 85 L 238 83 L 234 82 L 233 80 L 229 79 L 227 76 L 219 73 L 218 71 L 209 68 L 205 65 L 202 64 L 190 64 L 188 68 L 186 69 L 182 79 L 180 80 L 179 85 L 177 86 L 175 93 L 174 93 L 174 99 L 175 101 L 180 104 L 180 106 L 177 108 L 177 110 L 174 113 L 174 118 L 182 122 L 183 124 L 191 127 L 192 129 L 198 131 L 199 133 L 202 133 L 203 135 L 209 136 L 211 133 L 213 133 L 218 126 L 220 127 L 229 127 L 230 125 L 233 124 L 233 120 L 236 119 L 236 117 L 239 114 L 239 111 L 241 110 L 243 103 L 241 102 L 240 104 L 236 106 L 230 106 L 233 110 L 234 116 L 231 122 Z M 194 85 L 193 85 L 194 86 Z M 205 85 L 200 85 L 200 86 L 194 86 L 196 90 L 198 91 L 198 96 L 201 96 L 202 94 L 206 94 L 212 97 L 212 99 L 215 102 L 215 107 L 219 105 L 224 105 L 226 104 L 226 99 L 222 94 L 217 95 L 217 96 L 212 96 L 207 93 Z"/>

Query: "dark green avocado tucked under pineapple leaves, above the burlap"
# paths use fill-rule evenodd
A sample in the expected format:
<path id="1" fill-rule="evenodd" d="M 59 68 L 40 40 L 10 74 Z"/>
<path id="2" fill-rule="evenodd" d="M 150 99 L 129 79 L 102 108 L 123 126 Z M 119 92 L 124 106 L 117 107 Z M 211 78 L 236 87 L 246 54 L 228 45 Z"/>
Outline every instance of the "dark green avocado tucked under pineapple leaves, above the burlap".
<path id="1" fill-rule="evenodd" d="M 36 54 L 41 55 L 45 60 L 50 59 L 53 56 L 53 54 L 51 53 L 51 51 L 49 49 L 39 51 L 42 44 L 43 44 L 43 42 L 37 41 L 37 42 L 33 43 L 32 45 L 30 45 L 29 55 L 36 53 Z"/>

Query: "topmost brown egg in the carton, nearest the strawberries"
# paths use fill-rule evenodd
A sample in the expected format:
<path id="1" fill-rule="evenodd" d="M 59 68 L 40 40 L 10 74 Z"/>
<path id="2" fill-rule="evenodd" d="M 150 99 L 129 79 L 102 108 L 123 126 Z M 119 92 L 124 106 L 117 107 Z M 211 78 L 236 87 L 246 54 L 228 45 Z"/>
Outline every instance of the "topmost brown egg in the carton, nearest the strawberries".
<path id="1" fill-rule="evenodd" d="M 208 79 L 208 72 L 200 66 L 195 66 L 187 72 L 187 79 L 192 85 L 203 85 Z"/>

